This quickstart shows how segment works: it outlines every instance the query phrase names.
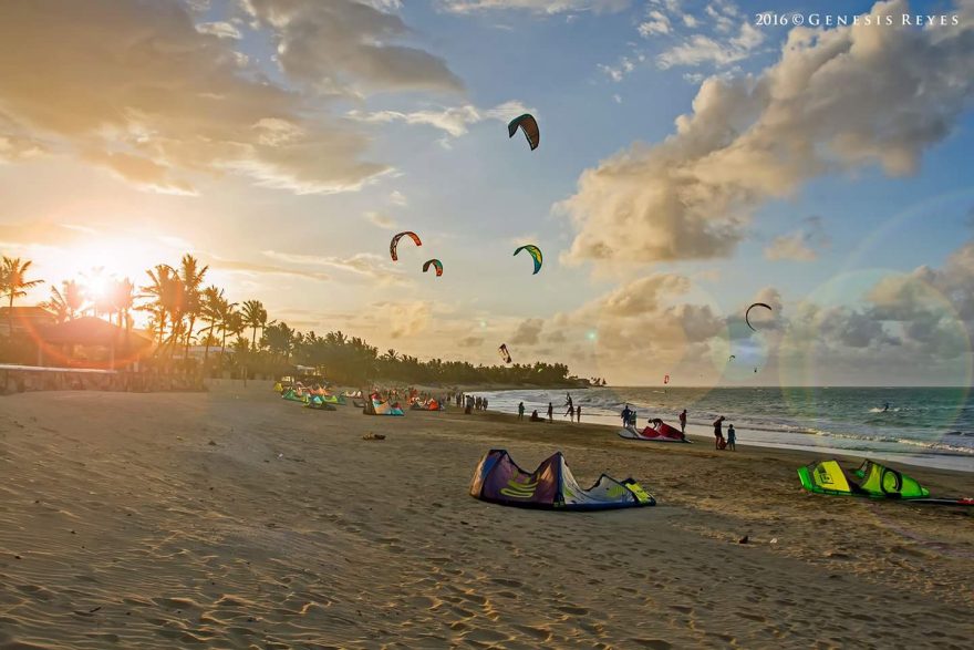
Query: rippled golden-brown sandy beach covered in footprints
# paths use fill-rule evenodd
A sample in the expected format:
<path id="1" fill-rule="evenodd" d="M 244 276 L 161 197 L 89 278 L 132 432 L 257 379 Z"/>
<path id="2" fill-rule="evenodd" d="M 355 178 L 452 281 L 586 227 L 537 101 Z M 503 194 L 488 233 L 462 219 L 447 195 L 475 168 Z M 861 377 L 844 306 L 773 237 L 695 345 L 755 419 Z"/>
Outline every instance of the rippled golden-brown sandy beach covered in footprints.
<path id="1" fill-rule="evenodd" d="M 0 649 L 970 648 L 971 509 L 801 492 L 808 455 L 478 413 L 317 412 L 269 385 L 0 399 Z M 365 441 L 383 433 L 382 441 Z M 468 495 L 557 450 L 659 506 Z M 910 468 L 934 494 L 974 476 Z M 748 536 L 748 544 L 738 539 Z"/>

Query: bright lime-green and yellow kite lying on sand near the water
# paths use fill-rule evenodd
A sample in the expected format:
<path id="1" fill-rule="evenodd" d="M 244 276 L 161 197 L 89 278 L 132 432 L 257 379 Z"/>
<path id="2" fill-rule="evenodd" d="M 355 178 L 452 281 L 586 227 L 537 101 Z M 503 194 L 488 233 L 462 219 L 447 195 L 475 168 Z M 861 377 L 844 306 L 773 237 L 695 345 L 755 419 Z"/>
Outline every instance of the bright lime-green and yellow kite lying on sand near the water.
<path id="1" fill-rule="evenodd" d="M 872 498 L 923 498 L 930 491 L 902 472 L 873 461 L 862 461 L 858 470 L 843 470 L 838 461 L 816 461 L 798 468 L 801 487 L 818 494 L 868 496 Z"/>

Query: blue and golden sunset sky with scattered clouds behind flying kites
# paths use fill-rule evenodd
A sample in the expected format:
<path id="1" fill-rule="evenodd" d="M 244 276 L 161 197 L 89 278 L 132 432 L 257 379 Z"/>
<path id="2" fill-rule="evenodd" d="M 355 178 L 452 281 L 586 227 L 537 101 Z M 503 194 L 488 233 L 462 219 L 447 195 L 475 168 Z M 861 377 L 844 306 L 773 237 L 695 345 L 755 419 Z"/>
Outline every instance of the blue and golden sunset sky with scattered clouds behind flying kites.
<path id="1" fill-rule="evenodd" d="M 970 385 L 974 0 L 841 4 L 4 2 L 0 252 L 422 359 Z"/>

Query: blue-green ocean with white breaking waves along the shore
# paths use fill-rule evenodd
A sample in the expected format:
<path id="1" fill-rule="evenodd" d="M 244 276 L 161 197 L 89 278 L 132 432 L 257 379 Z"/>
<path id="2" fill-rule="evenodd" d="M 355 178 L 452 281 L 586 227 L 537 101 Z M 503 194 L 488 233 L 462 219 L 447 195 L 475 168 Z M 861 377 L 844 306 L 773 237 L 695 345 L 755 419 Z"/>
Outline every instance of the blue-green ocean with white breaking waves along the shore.
<path id="1" fill-rule="evenodd" d="M 690 433 L 709 434 L 719 415 L 737 441 L 761 446 L 817 450 L 974 472 L 974 391 L 965 388 L 604 388 L 570 391 L 582 420 L 620 424 L 625 403 L 640 426 L 661 417 L 678 426 L 687 410 Z M 478 393 L 491 411 L 545 413 L 555 404 L 563 419 L 566 391 L 510 390 Z M 889 404 L 889 409 L 887 409 Z"/>

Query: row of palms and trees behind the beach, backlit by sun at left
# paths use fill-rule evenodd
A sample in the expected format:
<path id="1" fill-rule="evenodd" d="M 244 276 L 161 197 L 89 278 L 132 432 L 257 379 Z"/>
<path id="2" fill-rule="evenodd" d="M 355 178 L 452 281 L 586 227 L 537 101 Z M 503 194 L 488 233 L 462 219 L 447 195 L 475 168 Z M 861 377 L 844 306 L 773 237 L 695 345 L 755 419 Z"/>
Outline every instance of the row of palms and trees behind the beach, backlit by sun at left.
<path id="1" fill-rule="evenodd" d="M 8 338 L 13 336 L 14 301 L 43 283 L 29 278 L 30 267 L 30 260 L 6 256 L 0 262 L 0 296 L 11 308 Z M 322 368 L 331 381 L 351 385 L 376 379 L 546 386 L 600 383 L 598 379 L 590 382 L 570 375 L 563 363 L 474 365 L 442 359 L 421 361 L 394 349 L 380 353 L 363 339 L 341 331 L 324 336 L 299 332 L 286 322 L 270 320 L 261 301 L 231 302 L 224 289 L 206 286 L 208 270 L 189 254 L 177 266 L 159 264 L 148 269 L 142 286 L 94 269 L 85 278 L 51 286 L 49 298 L 39 307 L 50 311 L 56 322 L 94 316 L 126 331 L 133 328 L 134 311 L 147 313 L 147 330 L 155 342 L 151 363 L 165 370 L 274 376 L 293 372 L 296 365 L 308 365 Z M 190 357 L 193 344 L 205 347 L 201 361 Z"/>

